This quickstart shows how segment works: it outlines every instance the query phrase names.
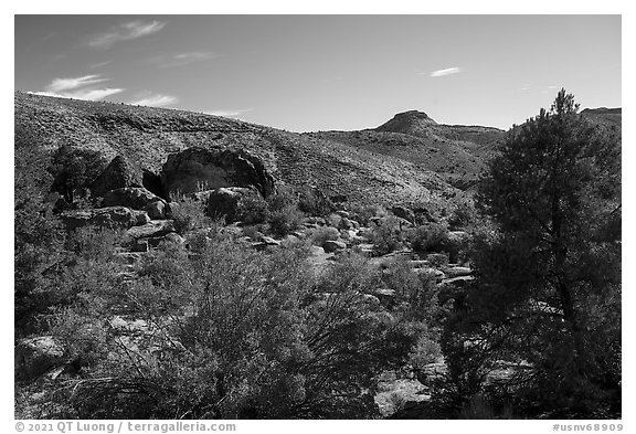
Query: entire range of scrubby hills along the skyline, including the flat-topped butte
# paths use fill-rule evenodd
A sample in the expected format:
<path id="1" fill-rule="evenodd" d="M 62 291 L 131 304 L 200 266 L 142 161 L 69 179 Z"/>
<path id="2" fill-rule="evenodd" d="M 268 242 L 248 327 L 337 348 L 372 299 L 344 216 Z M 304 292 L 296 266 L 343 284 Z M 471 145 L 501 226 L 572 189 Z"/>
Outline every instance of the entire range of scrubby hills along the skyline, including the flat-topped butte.
<path id="1" fill-rule="evenodd" d="M 410 110 L 358 131 L 288 133 L 176 109 L 15 93 L 15 123 L 51 148 L 70 144 L 123 155 L 159 173 L 168 155 L 190 147 L 245 149 L 280 183 L 315 186 L 351 202 L 452 208 L 466 197 L 505 131 L 437 124 Z M 621 127 L 621 108 L 585 109 L 590 120 Z"/>

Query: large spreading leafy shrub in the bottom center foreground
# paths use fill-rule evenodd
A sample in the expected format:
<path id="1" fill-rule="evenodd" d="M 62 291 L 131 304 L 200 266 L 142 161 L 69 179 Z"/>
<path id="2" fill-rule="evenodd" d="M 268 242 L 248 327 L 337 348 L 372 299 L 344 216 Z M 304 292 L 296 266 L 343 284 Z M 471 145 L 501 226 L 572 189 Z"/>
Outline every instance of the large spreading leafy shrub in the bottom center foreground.
<path id="1" fill-rule="evenodd" d="M 375 379 L 404 363 L 414 336 L 395 317 L 369 311 L 363 293 L 372 288 L 373 275 L 361 258 L 314 277 L 306 254 L 294 247 L 257 253 L 222 241 L 195 255 L 176 247 L 150 255 L 142 279 L 126 294 L 136 315 L 160 331 L 152 335 L 155 346 L 109 343 L 108 358 L 51 396 L 55 415 L 377 415 Z M 85 314 L 91 317 L 83 310 L 66 330 L 72 322 L 87 324 Z M 103 314 L 92 315 L 98 320 Z M 72 334 L 61 335 L 86 360 L 102 357 L 102 334 L 94 347 L 84 335 L 75 342 Z"/>

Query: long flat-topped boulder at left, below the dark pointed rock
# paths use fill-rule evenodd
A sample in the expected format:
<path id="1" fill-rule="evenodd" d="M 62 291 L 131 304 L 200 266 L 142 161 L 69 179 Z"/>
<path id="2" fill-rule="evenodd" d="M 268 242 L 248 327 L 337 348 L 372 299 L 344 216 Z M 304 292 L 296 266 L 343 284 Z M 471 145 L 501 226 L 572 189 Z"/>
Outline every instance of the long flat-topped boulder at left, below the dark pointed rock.
<path id="1" fill-rule="evenodd" d="M 132 210 L 126 207 L 107 207 L 91 210 L 64 211 L 60 220 L 67 231 L 94 225 L 105 229 L 128 229 L 137 224 Z"/>

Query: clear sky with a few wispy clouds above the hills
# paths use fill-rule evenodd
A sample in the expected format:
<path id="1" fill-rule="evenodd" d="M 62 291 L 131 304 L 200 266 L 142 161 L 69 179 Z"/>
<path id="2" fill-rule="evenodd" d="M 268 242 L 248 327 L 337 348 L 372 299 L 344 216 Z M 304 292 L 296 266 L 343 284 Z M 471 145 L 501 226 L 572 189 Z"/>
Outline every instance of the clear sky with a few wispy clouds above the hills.
<path id="1" fill-rule="evenodd" d="M 14 88 L 293 131 L 621 107 L 621 15 L 15 15 Z"/>

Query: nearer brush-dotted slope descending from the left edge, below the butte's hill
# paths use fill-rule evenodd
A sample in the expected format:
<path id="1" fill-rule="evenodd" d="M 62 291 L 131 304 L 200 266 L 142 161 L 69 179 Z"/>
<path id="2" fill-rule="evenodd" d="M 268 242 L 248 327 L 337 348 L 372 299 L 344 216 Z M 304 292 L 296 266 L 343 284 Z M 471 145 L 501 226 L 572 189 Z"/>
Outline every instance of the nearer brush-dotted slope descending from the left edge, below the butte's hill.
<path id="1" fill-rule="evenodd" d="M 328 195 L 343 194 L 352 202 L 446 207 L 463 194 L 447 183 L 441 170 L 427 170 L 417 159 L 400 152 L 379 151 L 371 141 L 365 146 L 343 144 L 338 137 L 287 133 L 174 109 L 24 93 L 15 93 L 14 102 L 15 123 L 36 131 L 52 148 L 70 144 L 98 150 L 108 159 L 124 155 L 156 173 L 171 152 L 214 146 L 246 149 L 264 161 L 278 182 L 316 186 Z M 473 157 L 465 154 L 464 160 L 469 161 Z M 445 163 L 453 165 L 451 155 Z"/>

